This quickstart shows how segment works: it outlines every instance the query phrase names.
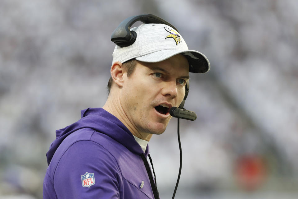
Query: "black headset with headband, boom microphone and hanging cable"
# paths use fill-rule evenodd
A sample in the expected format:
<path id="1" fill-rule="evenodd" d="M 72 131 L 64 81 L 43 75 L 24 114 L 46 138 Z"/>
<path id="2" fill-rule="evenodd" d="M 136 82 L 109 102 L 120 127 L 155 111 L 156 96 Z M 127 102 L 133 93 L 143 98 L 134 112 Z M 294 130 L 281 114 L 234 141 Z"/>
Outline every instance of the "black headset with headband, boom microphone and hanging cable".
<path id="1" fill-rule="evenodd" d="M 129 46 L 129 45 L 133 44 L 137 39 L 137 33 L 135 31 L 131 31 L 130 27 L 137 21 L 141 21 L 145 24 L 147 24 L 147 23 L 165 24 L 165 25 L 169 25 L 170 27 L 177 30 L 177 28 L 175 28 L 172 24 L 170 24 L 169 22 L 165 21 L 164 19 L 162 19 L 158 16 L 155 16 L 152 14 L 136 15 L 136 16 L 131 16 L 131 17 L 125 19 L 124 21 L 122 21 L 120 23 L 120 25 L 118 25 L 118 27 L 114 30 L 114 32 L 111 35 L 111 41 L 120 47 L 125 47 L 125 46 Z M 177 32 L 178 32 L 178 30 L 177 30 Z M 186 82 L 185 95 L 184 95 L 184 98 L 183 98 L 181 104 L 179 105 L 179 107 L 178 108 L 171 107 L 169 110 L 169 113 L 171 116 L 178 118 L 177 132 L 178 132 L 178 143 L 179 143 L 179 150 L 180 150 L 179 174 L 178 174 L 178 179 L 176 182 L 176 186 L 174 189 L 172 199 L 174 199 L 176 191 L 177 191 L 180 174 L 181 174 L 181 168 L 182 168 L 182 150 L 181 150 L 181 142 L 180 142 L 180 134 L 179 134 L 179 118 L 187 119 L 187 120 L 191 120 L 191 121 L 194 121 L 196 119 L 195 112 L 184 109 L 184 104 L 185 104 L 185 100 L 187 98 L 188 92 L 189 92 L 189 81 Z M 154 173 L 154 169 L 153 169 L 153 173 Z M 156 182 L 155 182 L 155 184 L 156 184 Z M 156 188 L 156 191 L 157 191 L 157 188 Z M 157 191 L 157 194 L 154 193 L 154 197 L 159 198 L 158 191 Z"/>

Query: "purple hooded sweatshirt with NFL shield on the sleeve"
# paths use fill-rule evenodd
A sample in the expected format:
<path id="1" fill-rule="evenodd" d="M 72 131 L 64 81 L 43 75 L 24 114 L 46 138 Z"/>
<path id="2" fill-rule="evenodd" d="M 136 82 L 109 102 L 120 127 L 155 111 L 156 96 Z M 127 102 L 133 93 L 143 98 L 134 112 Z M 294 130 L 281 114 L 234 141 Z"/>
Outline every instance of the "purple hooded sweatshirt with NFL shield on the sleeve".
<path id="1" fill-rule="evenodd" d="M 147 157 L 149 147 L 144 153 L 128 128 L 102 108 L 81 115 L 56 131 L 47 152 L 43 198 L 154 198 L 140 156 Z"/>

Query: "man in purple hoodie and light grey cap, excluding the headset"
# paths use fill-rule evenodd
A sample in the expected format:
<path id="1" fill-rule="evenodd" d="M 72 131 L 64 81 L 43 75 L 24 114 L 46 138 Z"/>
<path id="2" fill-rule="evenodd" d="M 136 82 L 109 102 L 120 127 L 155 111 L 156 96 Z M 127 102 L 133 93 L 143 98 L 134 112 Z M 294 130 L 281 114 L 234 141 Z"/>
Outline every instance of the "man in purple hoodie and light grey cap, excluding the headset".
<path id="1" fill-rule="evenodd" d="M 44 198 L 159 198 L 147 143 L 182 102 L 188 72 L 207 72 L 210 64 L 168 25 L 133 30 L 132 45 L 115 47 L 106 104 L 82 110 L 78 122 L 56 131 Z"/>

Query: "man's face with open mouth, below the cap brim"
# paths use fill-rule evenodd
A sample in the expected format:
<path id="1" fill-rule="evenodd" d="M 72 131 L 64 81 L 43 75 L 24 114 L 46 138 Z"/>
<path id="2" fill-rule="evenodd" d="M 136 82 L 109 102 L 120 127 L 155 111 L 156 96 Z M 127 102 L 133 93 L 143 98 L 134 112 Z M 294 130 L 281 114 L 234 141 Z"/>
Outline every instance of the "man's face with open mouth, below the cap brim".
<path id="1" fill-rule="evenodd" d="M 163 133 L 171 118 L 169 108 L 182 102 L 188 79 L 188 61 L 181 54 L 162 62 L 137 62 L 130 77 L 124 74 L 120 91 L 130 128 L 139 133 Z"/>

